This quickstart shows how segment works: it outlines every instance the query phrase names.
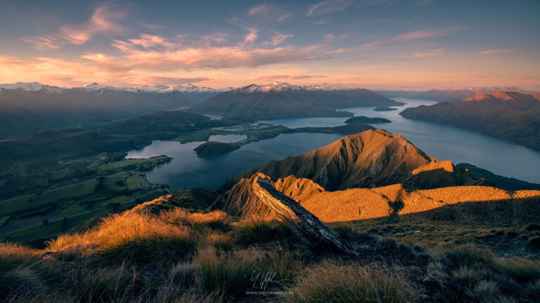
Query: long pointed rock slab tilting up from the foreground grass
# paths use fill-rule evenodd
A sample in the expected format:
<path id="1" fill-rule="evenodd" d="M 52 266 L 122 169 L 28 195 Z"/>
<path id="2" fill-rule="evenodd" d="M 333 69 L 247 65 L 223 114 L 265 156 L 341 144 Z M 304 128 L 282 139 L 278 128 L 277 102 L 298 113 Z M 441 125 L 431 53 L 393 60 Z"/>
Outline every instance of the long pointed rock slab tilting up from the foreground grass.
<path id="1" fill-rule="evenodd" d="M 314 248 L 324 248 L 325 250 L 330 248 L 330 250 L 345 255 L 356 255 L 356 252 L 348 243 L 340 240 L 335 231 L 300 206 L 297 201 L 278 191 L 264 175 L 255 177 L 252 190 L 278 219 L 289 223 L 299 234 L 304 236 L 309 245 Z"/>

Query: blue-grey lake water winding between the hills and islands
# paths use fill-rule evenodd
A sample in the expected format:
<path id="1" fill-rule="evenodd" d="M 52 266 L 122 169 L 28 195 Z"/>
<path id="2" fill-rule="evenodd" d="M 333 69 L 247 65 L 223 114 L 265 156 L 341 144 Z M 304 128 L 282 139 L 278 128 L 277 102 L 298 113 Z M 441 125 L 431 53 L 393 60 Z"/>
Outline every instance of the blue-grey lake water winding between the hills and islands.
<path id="1" fill-rule="evenodd" d="M 392 112 L 374 112 L 373 107 L 346 109 L 354 116 L 382 117 L 392 123 L 372 124 L 397 135 L 404 135 L 410 142 L 430 156 L 454 163 L 471 163 L 480 168 L 507 177 L 515 177 L 528 182 L 540 183 L 540 152 L 521 147 L 510 142 L 486 137 L 469 130 L 443 126 L 426 121 L 404 119 L 399 112 L 406 107 L 432 105 L 435 102 L 394 98 L 407 105 L 397 107 Z M 303 118 L 261 121 L 290 128 L 307 126 L 340 126 L 347 117 L 342 118 Z M 231 137 L 232 136 L 232 137 Z M 207 187 L 217 189 L 229 177 L 242 170 L 260 164 L 297 156 L 312 149 L 339 140 L 343 135 L 321 133 L 295 133 L 252 142 L 233 152 L 209 158 L 198 158 L 193 149 L 202 142 L 181 144 L 179 142 L 154 141 L 148 147 L 131 151 L 129 158 L 148 158 L 165 154 L 174 160 L 148 173 L 153 183 L 169 184 L 172 189 L 182 187 Z M 243 140 L 239 135 L 214 136 L 214 140 L 234 142 Z M 231 141 L 232 140 L 232 141 Z"/>

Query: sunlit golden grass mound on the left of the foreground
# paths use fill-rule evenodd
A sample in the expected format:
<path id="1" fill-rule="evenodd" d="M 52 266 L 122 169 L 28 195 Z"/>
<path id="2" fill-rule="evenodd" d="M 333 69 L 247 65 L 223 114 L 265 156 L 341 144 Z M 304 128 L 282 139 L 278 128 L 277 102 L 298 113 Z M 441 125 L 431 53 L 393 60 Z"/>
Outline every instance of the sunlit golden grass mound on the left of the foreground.
<path id="1" fill-rule="evenodd" d="M 194 227 L 227 229 L 226 214 L 188 213 L 175 209 L 153 215 L 128 211 L 103 220 L 82 234 L 63 235 L 48 243 L 47 251 L 69 255 L 110 255 L 115 260 L 161 260 L 163 254 L 184 257 L 205 236 Z M 214 243 L 217 238 L 214 238 Z"/>

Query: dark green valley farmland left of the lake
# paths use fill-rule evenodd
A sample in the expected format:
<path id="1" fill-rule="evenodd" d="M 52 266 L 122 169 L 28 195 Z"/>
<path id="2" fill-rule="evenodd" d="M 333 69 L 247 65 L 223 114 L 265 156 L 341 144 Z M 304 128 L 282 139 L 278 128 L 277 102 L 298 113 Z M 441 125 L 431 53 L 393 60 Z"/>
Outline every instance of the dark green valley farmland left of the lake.
<path id="1" fill-rule="evenodd" d="M 81 163 L 90 163 L 84 169 L 91 177 L 60 182 L 59 186 L 44 191 L 0 201 L 0 241 L 11 238 L 27 242 L 60 234 L 92 218 L 162 196 L 166 191 L 150 184 L 143 172 L 169 161 L 169 157 L 113 162 L 110 159 L 92 156 L 62 161 L 56 165 L 70 170 L 80 167 Z"/>

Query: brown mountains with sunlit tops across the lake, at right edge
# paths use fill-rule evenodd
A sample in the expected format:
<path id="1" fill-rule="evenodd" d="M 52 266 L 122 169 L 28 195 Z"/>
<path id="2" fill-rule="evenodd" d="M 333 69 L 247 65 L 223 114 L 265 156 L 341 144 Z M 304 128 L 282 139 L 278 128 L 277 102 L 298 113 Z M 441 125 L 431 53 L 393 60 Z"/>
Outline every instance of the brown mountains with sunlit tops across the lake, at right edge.
<path id="1" fill-rule="evenodd" d="M 539 97 L 517 92 L 480 93 L 458 102 L 411 107 L 399 114 L 540 149 Z"/>

